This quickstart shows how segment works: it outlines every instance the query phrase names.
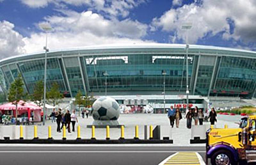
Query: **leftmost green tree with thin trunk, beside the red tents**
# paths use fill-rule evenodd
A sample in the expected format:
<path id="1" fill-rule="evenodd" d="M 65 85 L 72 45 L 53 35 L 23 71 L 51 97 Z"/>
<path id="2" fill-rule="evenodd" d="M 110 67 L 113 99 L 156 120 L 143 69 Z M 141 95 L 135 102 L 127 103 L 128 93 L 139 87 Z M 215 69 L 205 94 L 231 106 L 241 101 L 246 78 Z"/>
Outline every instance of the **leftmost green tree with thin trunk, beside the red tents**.
<path id="1" fill-rule="evenodd" d="M 16 123 L 18 122 L 18 103 L 20 100 L 26 99 L 26 93 L 24 92 L 23 88 L 23 81 L 21 78 L 21 75 L 19 74 L 18 77 L 13 81 L 11 84 L 11 87 L 9 89 L 8 93 L 8 101 L 12 102 L 12 104 L 15 104 L 16 109 L 15 109 L 15 118 L 16 118 Z"/>

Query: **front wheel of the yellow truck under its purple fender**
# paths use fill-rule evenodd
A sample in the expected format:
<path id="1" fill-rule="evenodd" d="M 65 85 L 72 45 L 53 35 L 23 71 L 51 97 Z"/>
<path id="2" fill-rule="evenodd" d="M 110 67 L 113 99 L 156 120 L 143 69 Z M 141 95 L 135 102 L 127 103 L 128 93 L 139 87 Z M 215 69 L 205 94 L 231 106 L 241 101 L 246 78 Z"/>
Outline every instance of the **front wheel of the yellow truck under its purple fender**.
<path id="1" fill-rule="evenodd" d="M 232 154 L 227 150 L 220 150 L 214 153 L 211 157 L 212 165 L 236 165 Z"/>

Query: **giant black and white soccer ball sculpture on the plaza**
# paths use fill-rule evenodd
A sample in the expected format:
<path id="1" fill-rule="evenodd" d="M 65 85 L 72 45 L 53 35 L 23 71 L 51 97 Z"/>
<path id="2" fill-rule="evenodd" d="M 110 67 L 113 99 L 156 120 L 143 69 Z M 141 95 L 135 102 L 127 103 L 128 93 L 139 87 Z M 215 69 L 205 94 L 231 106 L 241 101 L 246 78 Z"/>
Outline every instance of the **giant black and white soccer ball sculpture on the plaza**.
<path id="1" fill-rule="evenodd" d="M 92 105 L 94 120 L 117 120 L 120 106 L 114 98 L 100 97 Z"/>

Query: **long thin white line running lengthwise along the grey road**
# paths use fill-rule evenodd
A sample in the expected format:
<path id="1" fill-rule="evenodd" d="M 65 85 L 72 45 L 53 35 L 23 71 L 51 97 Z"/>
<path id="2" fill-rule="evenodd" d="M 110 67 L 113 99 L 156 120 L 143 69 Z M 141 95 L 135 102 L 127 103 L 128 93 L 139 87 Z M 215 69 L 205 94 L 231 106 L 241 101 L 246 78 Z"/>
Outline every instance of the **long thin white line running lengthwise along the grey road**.
<path id="1" fill-rule="evenodd" d="M 169 153 L 169 152 L 179 152 L 179 151 L 143 151 L 143 150 L 132 150 L 132 151 L 126 151 L 126 150 L 113 150 L 113 151 L 95 151 L 95 150 L 86 150 L 86 151 L 75 151 L 75 150 L 68 150 L 68 151 L 52 151 L 52 150 L 17 150 L 17 151 L 10 151 L 10 150 L 0 150 L 0 153 Z M 191 151 L 182 151 L 182 152 L 191 152 Z M 198 151 L 200 152 L 200 151 Z M 176 154 L 176 153 L 175 153 Z"/>

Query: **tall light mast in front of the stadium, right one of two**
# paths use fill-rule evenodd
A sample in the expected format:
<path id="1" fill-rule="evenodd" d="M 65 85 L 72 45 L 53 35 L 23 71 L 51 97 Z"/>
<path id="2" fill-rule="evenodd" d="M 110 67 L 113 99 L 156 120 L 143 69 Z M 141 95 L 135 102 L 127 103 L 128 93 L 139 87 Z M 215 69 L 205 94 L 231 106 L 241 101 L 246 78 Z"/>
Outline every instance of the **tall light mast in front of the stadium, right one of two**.
<path id="1" fill-rule="evenodd" d="M 192 23 L 191 22 L 186 22 L 182 25 L 182 29 L 186 30 L 186 98 L 187 98 L 187 106 L 186 110 L 188 111 L 189 108 L 189 102 L 188 102 L 188 97 L 189 97 L 189 86 L 188 86 L 188 49 L 189 49 L 189 43 L 188 43 L 188 31 L 189 29 L 192 28 Z"/>

